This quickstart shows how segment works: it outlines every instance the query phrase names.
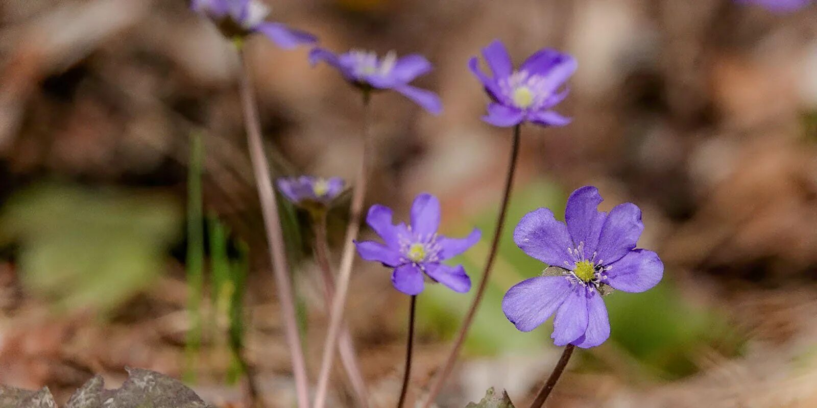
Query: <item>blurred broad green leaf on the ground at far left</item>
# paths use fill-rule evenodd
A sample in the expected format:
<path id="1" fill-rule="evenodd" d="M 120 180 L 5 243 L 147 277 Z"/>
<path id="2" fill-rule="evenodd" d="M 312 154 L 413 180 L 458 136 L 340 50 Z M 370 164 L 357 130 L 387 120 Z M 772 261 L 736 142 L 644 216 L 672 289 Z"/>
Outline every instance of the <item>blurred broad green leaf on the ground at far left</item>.
<path id="1" fill-rule="evenodd" d="M 172 197 L 45 184 L 8 202 L 0 241 L 16 242 L 27 290 L 61 312 L 106 313 L 165 269 L 180 223 Z"/>

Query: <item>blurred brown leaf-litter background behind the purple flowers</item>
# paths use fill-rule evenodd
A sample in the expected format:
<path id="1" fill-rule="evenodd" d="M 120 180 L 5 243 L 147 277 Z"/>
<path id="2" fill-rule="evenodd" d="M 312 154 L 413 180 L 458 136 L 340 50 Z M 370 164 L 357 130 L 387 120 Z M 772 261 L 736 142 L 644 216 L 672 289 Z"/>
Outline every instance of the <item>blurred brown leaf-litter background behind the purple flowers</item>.
<path id="1" fill-rule="evenodd" d="M 574 122 L 523 129 L 511 228 L 440 406 L 478 401 L 491 386 L 525 406 L 550 372 L 560 355 L 550 324 L 523 334 L 499 307 L 510 286 L 542 271 L 511 232 L 538 207 L 563 213 L 585 184 L 600 188 L 602 210 L 641 207 L 639 246 L 666 270 L 654 290 L 605 298 L 611 338 L 578 353 L 551 406 L 817 406 L 817 7 L 268 3 L 270 19 L 334 51 L 419 52 L 435 64 L 417 85 L 440 93 L 440 117 L 393 93 L 373 100 L 368 203 L 402 218 L 417 193 L 440 197 L 443 233 L 484 231 L 458 259 L 475 281 L 511 136 L 480 121 L 487 100 L 467 59 L 501 38 L 517 63 L 542 47 L 579 61 L 557 108 Z M 248 43 L 275 171 L 352 180 L 359 95 L 332 69 L 311 69 L 306 53 Z M 292 406 L 238 69 L 230 44 L 184 0 L 0 3 L 0 383 L 48 386 L 64 402 L 93 373 L 117 386 L 136 366 L 238 407 L 240 344 L 258 392 Z M 314 382 L 328 317 L 306 216 L 282 205 Z M 329 217 L 336 255 L 347 206 Z M 357 265 L 347 322 L 373 406 L 391 406 L 408 298 L 386 268 Z M 197 294 L 189 277 L 200 273 Z M 428 287 L 419 297 L 410 398 L 426 391 L 471 296 Z M 330 405 L 352 406 L 342 372 L 334 378 Z"/>

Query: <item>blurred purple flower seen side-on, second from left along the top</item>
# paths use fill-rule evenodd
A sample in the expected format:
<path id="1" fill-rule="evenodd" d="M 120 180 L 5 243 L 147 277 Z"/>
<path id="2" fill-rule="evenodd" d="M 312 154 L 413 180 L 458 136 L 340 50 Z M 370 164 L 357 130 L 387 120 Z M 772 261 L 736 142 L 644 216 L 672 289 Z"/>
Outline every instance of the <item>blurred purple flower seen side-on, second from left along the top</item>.
<path id="1" fill-rule="evenodd" d="M 315 48 L 310 51 L 309 59 L 313 66 L 320 61 L 332 65 L 346 81 L 364 91 L 391 89 L 435 115 L 443 111 L 443 104 L 434 92 L 408 85 L 408 82 L 431 71 L 431 63 L 422 55 L 397 58 L 391 51 L 378 58 L 373 51 L 352 50 L 337 55 L 323 48 Z"/>

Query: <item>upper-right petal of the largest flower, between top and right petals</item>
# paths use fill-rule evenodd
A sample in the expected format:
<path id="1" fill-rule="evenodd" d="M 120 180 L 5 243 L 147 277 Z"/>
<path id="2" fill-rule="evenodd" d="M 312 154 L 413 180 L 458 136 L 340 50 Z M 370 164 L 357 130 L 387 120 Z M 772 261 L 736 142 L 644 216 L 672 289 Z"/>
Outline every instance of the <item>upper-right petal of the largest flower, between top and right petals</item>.
<path id="1" fill-rule="evenodd" d="M 625 202 L 615 206 L 601 227 L 596 259 L 600 264 L 612 264 L 636 247 L 644 224 L 641 210 L 635 204 Z"/>

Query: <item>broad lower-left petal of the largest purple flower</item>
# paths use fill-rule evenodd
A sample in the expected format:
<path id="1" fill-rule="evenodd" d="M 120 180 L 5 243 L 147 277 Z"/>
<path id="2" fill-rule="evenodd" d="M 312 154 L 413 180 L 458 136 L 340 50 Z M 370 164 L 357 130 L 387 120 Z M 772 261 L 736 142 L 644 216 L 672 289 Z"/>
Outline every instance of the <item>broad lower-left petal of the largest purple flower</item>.
<path id="1" fill-rule="evenodd" d="M 531 277 L 507 291 L 502 312 L 517 330 L 534 330 L 556 312 L 570 291 L 565 277 Z"/>

